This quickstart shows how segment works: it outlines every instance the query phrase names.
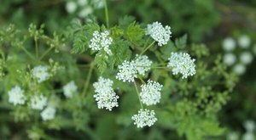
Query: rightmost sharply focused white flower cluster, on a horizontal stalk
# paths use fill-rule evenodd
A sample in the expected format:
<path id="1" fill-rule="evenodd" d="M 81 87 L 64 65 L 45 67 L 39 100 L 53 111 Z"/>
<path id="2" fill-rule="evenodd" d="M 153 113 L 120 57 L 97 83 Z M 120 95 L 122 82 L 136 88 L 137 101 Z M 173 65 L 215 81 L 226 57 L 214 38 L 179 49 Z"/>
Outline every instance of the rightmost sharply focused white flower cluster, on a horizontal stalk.
<path id="1" fill-rule="evenodd" d="M 195 59 L 191 59 L 188 53 L 171 53 L 167 67 L 172 69 L 172 74 L 181 73 L 182 78 L 195 75 Z"/>

